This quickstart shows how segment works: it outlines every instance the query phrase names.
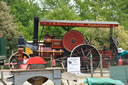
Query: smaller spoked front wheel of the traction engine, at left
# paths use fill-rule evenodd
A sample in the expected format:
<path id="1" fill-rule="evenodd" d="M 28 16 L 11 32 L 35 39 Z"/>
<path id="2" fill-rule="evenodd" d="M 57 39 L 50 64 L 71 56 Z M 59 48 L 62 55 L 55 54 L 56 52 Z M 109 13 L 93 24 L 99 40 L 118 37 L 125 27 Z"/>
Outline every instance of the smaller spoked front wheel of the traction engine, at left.
<path id="1" fill-rule="evenodd" d="M 30 58 L 30 56 L 28 54 L 26 54 L 25 52 L 23 52 L 23 56 L 22 58 Z M 9 68 L 14 68 L 14 69 L 18 69 L 19 68 L 19 65 L 22 64 L 23 62 L 20 62 L 19 61 L 19 53 L 16 52 L 14 54 L 11 55 L 10 59 L 9 59 Z"/>

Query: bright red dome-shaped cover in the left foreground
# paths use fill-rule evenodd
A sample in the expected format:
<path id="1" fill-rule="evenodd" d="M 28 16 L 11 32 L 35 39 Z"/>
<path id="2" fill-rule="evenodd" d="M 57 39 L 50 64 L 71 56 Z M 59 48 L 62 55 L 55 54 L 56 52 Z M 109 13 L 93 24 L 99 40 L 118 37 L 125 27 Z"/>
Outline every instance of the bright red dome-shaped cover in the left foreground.
<path id="1" fill-rule="evenodd" d="M 35 57 L 29 58 L 26 64 L 46 64 L 46 62 L 44 61 L 43 58 L 35 56 Z"/>

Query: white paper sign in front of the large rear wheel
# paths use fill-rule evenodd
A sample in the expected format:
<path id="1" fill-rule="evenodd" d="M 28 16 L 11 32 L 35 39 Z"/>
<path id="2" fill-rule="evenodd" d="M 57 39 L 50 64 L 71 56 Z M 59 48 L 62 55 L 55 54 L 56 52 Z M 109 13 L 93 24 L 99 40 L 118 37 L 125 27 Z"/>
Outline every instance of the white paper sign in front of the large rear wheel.
<path id="1" fill-rule="evenodd" d="M 69 57 L 67 60 L 67 71 L 80 74 L 80 57 Z"/>

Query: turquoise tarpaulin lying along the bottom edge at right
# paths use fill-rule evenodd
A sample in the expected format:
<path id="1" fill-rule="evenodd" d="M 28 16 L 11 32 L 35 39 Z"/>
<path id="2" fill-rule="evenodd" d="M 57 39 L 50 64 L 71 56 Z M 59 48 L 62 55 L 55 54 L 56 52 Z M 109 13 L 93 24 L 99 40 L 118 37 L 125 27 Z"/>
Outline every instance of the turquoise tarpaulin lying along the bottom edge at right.
<path id="1" fill-rule="evenodd" d="M 84 83 L 88 85 L 125 85 L 120 80 L 103 79 L 103 78 L 86 78 Z"/>

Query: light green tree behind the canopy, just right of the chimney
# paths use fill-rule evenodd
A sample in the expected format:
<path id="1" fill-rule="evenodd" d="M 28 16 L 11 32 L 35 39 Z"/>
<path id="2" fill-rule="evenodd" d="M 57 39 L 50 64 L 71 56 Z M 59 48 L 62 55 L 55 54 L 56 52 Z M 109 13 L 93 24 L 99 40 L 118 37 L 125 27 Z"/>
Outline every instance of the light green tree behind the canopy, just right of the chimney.
<path id="1" fill-rule="evenodd" d="M 80 17 L 76 15 L 75 11 L 69 6 L 70 0 L 45 0 L 43 4 L 46 4 L 45 9 L 50 10 L 44 19 L 49 20 L 80 20 Z M 49 31 L 56 36 L 64 36 L 65 32 L 72 28 L 61 27 L 48 27 L 45 31 Z"/>

